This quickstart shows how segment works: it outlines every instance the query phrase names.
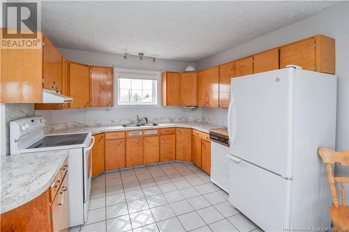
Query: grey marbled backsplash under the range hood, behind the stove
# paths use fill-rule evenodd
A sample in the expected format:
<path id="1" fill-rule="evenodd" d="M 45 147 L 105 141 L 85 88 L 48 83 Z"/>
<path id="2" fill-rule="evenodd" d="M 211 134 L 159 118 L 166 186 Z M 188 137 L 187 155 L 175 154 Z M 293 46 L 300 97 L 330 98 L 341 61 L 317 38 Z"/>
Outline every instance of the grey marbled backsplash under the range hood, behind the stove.
<path id="1" fill-rule="evenodd" d="M 34 114 L 34 104 L 5 104 L 6 155 L 10 154 L 10 121 Z"/>

